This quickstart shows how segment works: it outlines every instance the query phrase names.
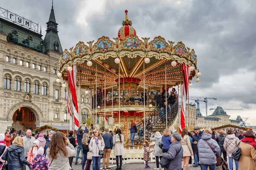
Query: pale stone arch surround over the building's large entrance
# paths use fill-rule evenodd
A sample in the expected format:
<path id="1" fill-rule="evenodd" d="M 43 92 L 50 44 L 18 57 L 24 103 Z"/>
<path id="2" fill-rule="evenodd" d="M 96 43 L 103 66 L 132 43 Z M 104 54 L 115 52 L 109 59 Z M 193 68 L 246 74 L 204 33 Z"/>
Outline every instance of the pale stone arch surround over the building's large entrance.
<path id="1" fill-rule="evenodd" d="M 9 122 L 13 122 L 13 115 L 15 113 L 15 111 L 17 111 L 18 108 L 29 108 L 31 109 L 31 111 L 33 111 L 33 113 L 35 114 L 35 118 L 36 118 L 36 123 L 39 123 L 42 121 L 42 111 L 40 108 L 38 108 L 37 105 L 31 103 L 31 102 L 19 102 L 16 103 L 15 105 L 12 106 L 12 108 L 9 109 L 9 111 L 7 112 L 8 116 L 8 121 Z"/>

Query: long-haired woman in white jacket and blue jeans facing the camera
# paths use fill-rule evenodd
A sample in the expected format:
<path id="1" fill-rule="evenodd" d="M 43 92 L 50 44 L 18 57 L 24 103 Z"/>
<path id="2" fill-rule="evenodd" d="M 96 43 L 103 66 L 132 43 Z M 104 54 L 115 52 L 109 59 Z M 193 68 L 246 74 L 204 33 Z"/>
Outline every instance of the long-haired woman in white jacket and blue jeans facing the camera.
<path id="1" fill-rule="evenodd" d="M 90 140 L 89 144 L 89 150 L 92 152 L 93 157 L 93 170 L 99 170 L 100 169 L 100 159 L 101 155 L 99 155 L 100 150 L 104 150 L 105 143 L 102 139 L 102 136 L 100 134 L 99 130 L 95 130 L 93 138 Z"/>

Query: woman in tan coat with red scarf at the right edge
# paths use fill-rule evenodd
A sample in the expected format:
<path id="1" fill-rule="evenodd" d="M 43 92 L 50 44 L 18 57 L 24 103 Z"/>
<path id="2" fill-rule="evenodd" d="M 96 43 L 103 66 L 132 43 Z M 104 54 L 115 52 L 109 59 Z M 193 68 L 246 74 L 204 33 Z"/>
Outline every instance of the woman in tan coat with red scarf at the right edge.
<path id="1" fill-rule="evenodd" d="M 256 170 L 256 142 L 253 131 L 244 133 L 244 138 L 239 143 L 240 158 L 239 170 Z"/>

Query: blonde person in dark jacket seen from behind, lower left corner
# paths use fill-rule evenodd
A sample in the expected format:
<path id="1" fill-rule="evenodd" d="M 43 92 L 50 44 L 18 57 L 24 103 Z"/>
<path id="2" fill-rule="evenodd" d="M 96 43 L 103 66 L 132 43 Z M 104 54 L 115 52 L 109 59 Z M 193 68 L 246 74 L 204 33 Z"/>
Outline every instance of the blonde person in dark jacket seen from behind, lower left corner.
<path id="1" fill-rule="evenodd" d="M 30 166 L 29 161 L 25 159 L 23 139 L 17 136 L 12 145 L 10 145 L 3 154 L 2 159 L 8 161 L 9 170 L 23 170 L 23 166 Z"/>

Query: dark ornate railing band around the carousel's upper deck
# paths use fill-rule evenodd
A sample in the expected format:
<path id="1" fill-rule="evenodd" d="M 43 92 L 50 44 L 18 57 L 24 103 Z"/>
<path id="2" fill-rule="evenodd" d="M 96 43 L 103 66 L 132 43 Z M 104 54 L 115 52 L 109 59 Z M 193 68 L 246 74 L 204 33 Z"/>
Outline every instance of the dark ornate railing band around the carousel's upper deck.
<path id="1" fill-rule="evenodd" d="M 97 95 L 97 97 L 96 97 Z M 96 106 L 118 106 L 119 105 L 119 92 L 98 92 L 92 96 L 93 108 Z M 97 98 L 97 102 L 96 102 Z M 161 104 L 163 96 L 155 91 L 145 91 L 145 105 L 158 106 Z M 120 106 L 125 105 L 144 105 L 144 91 L 120 91 Z M 163 104 L 162 104 L 163 105 Z"/>

